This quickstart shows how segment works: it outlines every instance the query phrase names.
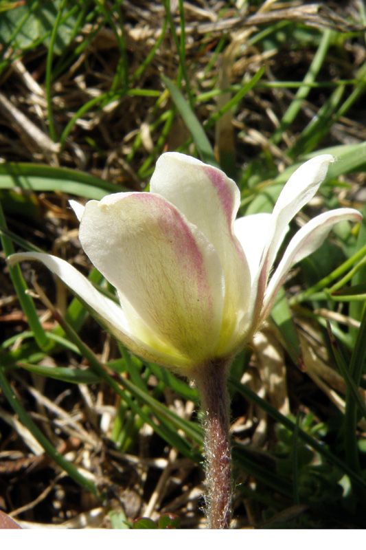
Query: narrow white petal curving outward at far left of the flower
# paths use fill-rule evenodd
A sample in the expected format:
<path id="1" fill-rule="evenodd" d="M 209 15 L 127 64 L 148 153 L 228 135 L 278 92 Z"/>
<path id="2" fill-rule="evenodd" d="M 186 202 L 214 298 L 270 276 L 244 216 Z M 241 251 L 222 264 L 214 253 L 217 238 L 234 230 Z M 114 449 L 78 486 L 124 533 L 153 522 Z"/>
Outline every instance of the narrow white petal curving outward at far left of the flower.
<path id="1" fill-rule="evenodd" d="M 187 360 L 179 353 L 163 353 L 137 338 L 131 331 L 122 308 L 113 300 L 100 294 L 84 275 L 65 260 L 41 252 L 20 252 L 8 257 L 8 263 L 14 265 L 23 260 L 41 261 L 57 275 L 78 298 L 87 306 L 91 314 L 120 340 L 130 351 L 141 358 L 163 366 L 189 366 Z"/>

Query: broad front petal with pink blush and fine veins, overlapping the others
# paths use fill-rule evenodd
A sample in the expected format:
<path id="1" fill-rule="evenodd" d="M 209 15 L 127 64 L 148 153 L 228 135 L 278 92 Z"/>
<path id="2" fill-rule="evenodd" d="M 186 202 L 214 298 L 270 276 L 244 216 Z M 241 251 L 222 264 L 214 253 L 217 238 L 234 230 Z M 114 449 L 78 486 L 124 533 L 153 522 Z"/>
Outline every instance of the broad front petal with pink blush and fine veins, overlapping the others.
<path id="1" fill-rule="evenodd" d="M 192 362 L 213 356 L 225 283 L 214 250 L 172 204 L 152 193 L 117 193 L 85 206 L 79 232 L 112 283 L 131 331 Z"/>

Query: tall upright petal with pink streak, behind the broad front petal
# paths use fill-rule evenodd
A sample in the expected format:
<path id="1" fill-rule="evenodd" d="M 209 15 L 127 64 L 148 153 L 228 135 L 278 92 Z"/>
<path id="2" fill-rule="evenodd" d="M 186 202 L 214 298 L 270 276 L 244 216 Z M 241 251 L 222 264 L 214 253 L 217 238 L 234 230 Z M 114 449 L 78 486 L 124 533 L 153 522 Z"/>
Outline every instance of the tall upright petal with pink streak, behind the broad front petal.
<path id="1" fill-rule="evenodd" d="M 225 308 L 218 353 L 236 330 L 249 304 L 250 271 L 233 222 L 240 205 L 235 182 L 222 170 L 182 155 L 164 153 L 150 180 L 150 192 L 162 195 L 206 236 L 225 274 Z"/>

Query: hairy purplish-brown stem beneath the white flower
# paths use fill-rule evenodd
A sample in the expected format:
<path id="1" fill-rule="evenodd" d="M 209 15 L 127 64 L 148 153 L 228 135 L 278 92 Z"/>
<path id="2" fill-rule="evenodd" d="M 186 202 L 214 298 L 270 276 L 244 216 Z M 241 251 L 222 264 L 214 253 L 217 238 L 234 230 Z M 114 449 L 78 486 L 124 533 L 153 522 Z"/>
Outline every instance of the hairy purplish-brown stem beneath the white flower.
<path id="1" fill-rule="evenodd" d="M 194 382 L 205 413 L 205 473 L 207 529 L 228 529 L 231 519 L 231 446 L 229 441 L 229 362 L 201 366 Z"/>

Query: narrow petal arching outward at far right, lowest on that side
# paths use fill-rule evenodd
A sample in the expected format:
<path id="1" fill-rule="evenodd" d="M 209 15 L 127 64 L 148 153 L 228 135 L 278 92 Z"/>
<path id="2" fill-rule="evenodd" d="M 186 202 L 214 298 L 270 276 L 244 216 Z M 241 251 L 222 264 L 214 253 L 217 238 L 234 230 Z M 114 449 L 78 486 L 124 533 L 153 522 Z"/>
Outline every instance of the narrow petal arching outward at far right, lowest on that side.
<path id="1" fill-rule="evenodd" d="M 291 267 L 317 250 L 323 241 L 325 241 L 333 226 L 343 220 L 361 222 L 362 215 L 358 210 L 354 210 L 353 208 L 330 210 L 330 212 L 319 214 L 319 216 L 308 221 L 293 236 L 293 239 L 291 239 L 286 248 L 282 261 L 279 263 L 277 270 L 275 270 L 271 281 L 269 281 L 264 298 L 263 317 L 266 316 L 271 308 L 273 298 L 275 298 L 275 294 L 284 282 L 284 278 Z"/>

